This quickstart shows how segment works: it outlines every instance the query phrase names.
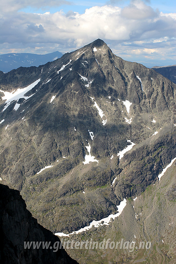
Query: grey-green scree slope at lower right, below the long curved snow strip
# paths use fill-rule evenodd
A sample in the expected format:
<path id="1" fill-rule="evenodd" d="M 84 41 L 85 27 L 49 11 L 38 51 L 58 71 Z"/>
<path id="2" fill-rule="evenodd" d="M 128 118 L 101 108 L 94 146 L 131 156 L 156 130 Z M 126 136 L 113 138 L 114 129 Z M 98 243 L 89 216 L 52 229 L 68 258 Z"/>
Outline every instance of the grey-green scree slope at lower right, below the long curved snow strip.
<path id="1" fill-rule="evenodd" d="M 135 201 L 127 199 L 122 214 L 109 222 L 65 240 L 122 243 L 117 249 L 107 247 L 71 250 L 70 256 L 81 264 L 95 263 L 176 263 L 176 162 L 165 172 L 159 182 L 151 184 Z M 132 243 L 133 241 L 133 243 Z M 149 249 L 139 248 L 140 242 L 151 242 Z M 125 247 L 125 242 L 131 247 Z M 89 244 L 88 244 L 89 245 Z M 138 247 L 138 248 L 137 248 Z"/>

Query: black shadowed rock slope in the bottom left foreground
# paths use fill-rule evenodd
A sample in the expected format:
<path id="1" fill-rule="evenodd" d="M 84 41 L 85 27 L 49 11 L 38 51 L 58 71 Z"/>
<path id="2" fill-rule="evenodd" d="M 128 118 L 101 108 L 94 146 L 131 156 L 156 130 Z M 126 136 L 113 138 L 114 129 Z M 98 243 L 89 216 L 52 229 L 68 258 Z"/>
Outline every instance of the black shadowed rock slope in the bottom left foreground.
<path id="1" fill-rule="evenodd" d="M 78 263 L 69 257 L 63 248 L 56 250 L 60 243 L 51 231 L 43 228 L 26 209 L 20 192 L 0 184 L 0 263 Z M 25 248 L 24 242 L 50 242 L 51 248 Z M 55 244 L 55 248 L 53 245 Z M 54 252 L 53 252 L 54 251 Z"/>

